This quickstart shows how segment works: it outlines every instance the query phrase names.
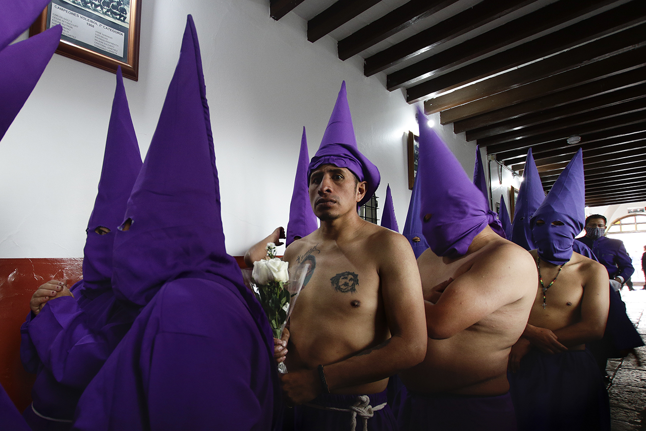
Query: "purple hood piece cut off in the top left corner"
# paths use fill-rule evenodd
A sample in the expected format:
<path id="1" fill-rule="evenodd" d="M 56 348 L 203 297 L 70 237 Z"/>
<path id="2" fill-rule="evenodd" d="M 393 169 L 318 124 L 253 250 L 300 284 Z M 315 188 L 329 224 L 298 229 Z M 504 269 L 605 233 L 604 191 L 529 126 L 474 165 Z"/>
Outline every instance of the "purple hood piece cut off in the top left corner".
<path id="1" fill-rule="evenodd" d="M 16 40 L 51 0 L 0 0 L 0 50 Z"/>

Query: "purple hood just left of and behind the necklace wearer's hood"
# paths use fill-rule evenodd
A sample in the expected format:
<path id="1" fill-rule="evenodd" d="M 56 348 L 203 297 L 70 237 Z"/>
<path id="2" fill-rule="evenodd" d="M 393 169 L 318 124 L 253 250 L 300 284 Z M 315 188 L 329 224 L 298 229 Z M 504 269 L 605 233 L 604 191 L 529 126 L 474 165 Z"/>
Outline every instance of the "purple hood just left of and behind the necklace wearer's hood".
<path id="1" fill-rule="evenodd" d="M 530 217 L 536 212 L 545 199 L 541 177 L 538 175 L 532 149 L 527 151 L 525 168 L 523 169 L 523 182 L 518 189 L 516 206 L 514 206 L 514 222 L 512 223 L 512 241 L 525 250 L 534 250 L 536 246 L 532 241 L 532 228 Z"/>

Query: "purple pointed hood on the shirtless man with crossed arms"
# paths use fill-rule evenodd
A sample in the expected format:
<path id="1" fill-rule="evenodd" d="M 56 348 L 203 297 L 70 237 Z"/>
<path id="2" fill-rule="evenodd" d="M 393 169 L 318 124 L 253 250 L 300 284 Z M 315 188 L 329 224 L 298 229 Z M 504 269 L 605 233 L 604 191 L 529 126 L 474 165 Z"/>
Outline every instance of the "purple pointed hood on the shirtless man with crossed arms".
<path id="1" fill-rule="evenodd" d="M 422 230 L 437 256 L 463 256 L 487 225 L 503 236 L 500 221 L 488 210 L 485 196 L 466 176 L 419 111 L 419 163 L 422 188 Z"/>

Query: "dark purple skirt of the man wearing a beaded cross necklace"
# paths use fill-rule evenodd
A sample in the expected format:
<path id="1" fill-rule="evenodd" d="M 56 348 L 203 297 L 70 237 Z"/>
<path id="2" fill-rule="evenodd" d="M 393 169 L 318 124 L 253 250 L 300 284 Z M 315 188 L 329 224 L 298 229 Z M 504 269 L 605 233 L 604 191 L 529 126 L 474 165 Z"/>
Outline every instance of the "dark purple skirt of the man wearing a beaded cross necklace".
<path id="1" fill-rule="evenodd" d="M 587 350 L 549 355 L 532 349 L 508 380 L 521 431 L 610 429 L 608 393 Z"/>

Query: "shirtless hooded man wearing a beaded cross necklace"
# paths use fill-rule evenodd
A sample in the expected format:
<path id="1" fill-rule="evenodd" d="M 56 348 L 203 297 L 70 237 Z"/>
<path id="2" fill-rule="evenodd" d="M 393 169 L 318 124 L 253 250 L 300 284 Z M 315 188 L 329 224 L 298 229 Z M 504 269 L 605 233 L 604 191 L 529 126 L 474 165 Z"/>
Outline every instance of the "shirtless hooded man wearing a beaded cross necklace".
<path id="1" fill-rule="evenodd" d="M 581 150 L 532 216 L 539 278 L 528 324 L 509 358 L 510 392 L 521 430 L 608 430 L 607 392 L 590 340 L 609 309 L 603 266 L 572 250 L 583 227 Z"/>

